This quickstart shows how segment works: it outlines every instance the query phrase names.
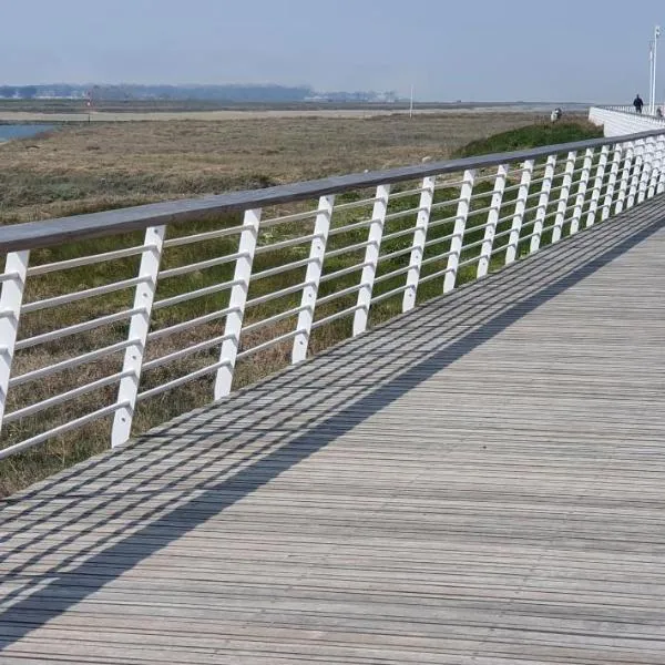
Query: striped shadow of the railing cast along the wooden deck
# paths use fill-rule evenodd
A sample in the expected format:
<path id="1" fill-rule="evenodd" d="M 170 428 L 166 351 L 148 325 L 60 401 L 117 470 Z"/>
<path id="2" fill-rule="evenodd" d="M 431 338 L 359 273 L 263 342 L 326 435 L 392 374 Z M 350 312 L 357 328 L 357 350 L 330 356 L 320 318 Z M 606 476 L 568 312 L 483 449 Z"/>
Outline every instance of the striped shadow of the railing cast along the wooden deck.
<path id="1" fill-rule="evenodd" d="M 3 573 L 3 579 L 16 589 L 0 598 L 3 607 L 0 651 L 325 448 L 339 434 L 648 238 L 665 225 L 664 207 L 663 197 L 657 197 L 632 211 L 630 219 L 622 215 L 444 299 L 430 301 L 418 314 L 402 316 L 381 328 L 395 331 L 389 344 L 385 335 L 379 339 L 371 332 L 347 341 L 309 365 L 286 370 L 198 410 L 192 422 L 192 415 L 181 417 L 119 452 L 89 460 L 41 483 L 37 490 L 0 502 L 13 508 L 21 502 L 29 503 L 25 510 L 0 522 L 6 534 L 2 539 L 4 561 L 22 552 L 27 556 Z M 442 307 L 454 316 L 448 325 L 441 320 Z M 403 335 L 409 339 L 407 349 Z M 358 366 L 348 362 L 351 350 L 370 358 L 360 371 Z M 346 390 L 341 395 L 323 396 L 314 402 L 316 413 L 308 421 L 289 423 L 288 409 L 303 400 L 305 391 L 316 399 L 321 375 L 340 385 L 346 379 L 346 388 L 355 395 L 349 397 Z M 247 436 L 242 443 L 234 444 L 247 410 L 256 408 L 262 398 L 267 400 L 276 388 L 289 387 L 293 392 L 287 391 L 287 397 L 265 407 L 262 402 L 262 412 L 254 416 L 249 431 L 245 432 Z M 256 448 L 267 432 L 273 432 L 273 438 Z M 177 446 L 162 448 L 165 439 L 176 440 Z M 243 454 L 243 450 L 249 448 Z M 204 454 L 204 459 L 200 459 Z M 229 462 L 229 458 L 233 461 Z M 196 475 L 204 471 L 203 478 L 197 480 Z M 157 489 L 149 487 L 160 482 Z M 43 492 L 49 495 L 41 500 Z M 176 505 L 174 492 L 181 492 Z M 113 509 L 117 499 L 127 497 L 129 503 Z M 57 508 L 53 499 L 58 499 Z M 94 544 L 85 544 L 86 536 L 94 534 L 95 529 L 129 511 L 140 511 L 149 502 L 151 507 L 139 516 L 134 514 L 115 530 L 110 528 Z M 64 518 L 64 522 L 47 523 L 45 530 L 31 533 L 31 528 L 43 523 L 42 511 L 49 508 L 52 508 L 49 518 Z M 83 509 L 83 513 L 76 509 Z M 75 512 L 69 521 L 68 511 Z M 80 522 L 82 515 L 96 519 L 95 513 L 96 522 Z M 16 519 L 23 523 L 12 530 L 11 522 Z M 132 529 L 135 531 L 127 534 Z M 29 553 L 31 545 L 55 534 L 64 535 L 37 554 Z M 17 535 L 23 540 L 7 549 Z M 79 540 L 82 542 L 78 543 Z M 63 556 L 60 564 L 48 573 L 30 573 L 31 566 L 64 546 L 73 552 Z M 81 557 L 86 559 L 76 564 Z M 111 572 L 104 569 L 110 560 L 114 567 Z"/>

